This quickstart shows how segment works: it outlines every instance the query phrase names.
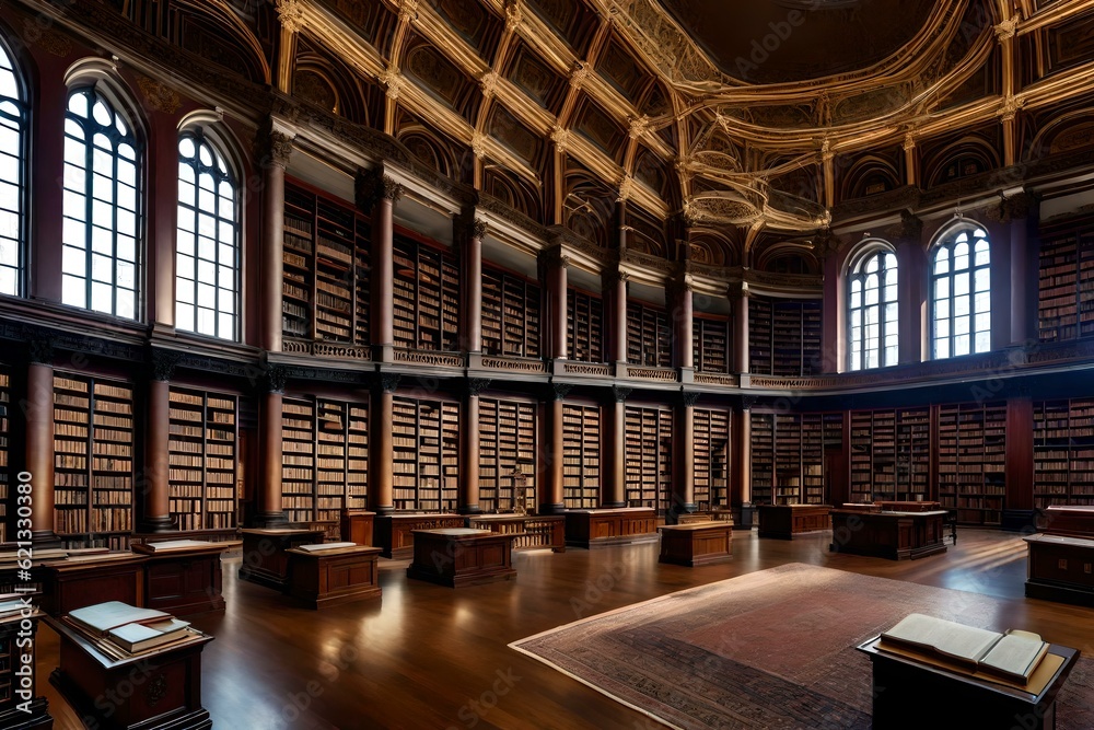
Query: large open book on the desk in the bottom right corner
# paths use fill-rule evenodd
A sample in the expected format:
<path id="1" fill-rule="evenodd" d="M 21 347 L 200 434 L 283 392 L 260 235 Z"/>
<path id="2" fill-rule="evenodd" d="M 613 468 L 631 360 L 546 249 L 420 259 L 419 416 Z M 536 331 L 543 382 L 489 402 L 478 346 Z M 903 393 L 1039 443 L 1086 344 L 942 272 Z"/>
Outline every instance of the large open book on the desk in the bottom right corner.
<path id="1" fill-rule="evenodd" d="M 1029 631 L 1000 634 L 919 613 L 909 614 L 881 638 L 881 649 L 886 645 L 912 649 L 1019 683 L 1028 682 L 1048 653 L 1048 644 Z"/>

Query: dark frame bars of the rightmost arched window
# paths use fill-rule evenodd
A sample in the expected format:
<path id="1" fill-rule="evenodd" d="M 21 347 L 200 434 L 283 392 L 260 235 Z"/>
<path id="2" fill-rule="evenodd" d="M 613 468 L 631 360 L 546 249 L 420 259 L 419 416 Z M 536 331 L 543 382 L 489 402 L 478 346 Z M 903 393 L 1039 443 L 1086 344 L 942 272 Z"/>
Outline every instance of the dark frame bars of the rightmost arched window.
<path id="1" fill-rule="evenodd" d="M 977 235 L 978 233 L 982 233 L 982 235 Z M 954 250 L 956 248 L 956 246 L 959 243 L 963 243 L 962 241 L 958 241 L 958 239 L 962 235 L 966 235 L 967 236 L 967 240 L 964 241 L 964 243 L 966 243 L 968 245 L 968 266 L 966 268 L 963 268 L 963 269 L 958 270 L 958 269 L 954 268 L 954 265 L 955 265 L 955 262 L 954 262 Z M 976 263 L 976 260 L 977 260 L 977 251 L 976 251 L 976 248 L 977 248 L 977 243 L 979 241 L 982 241 L 987 245 L 987 262 L 984 263 L 984 264 L 977 264 Z M 946 270 L 940 274 L 935 269 L 936 269 L 936 263 L 938 263 L 936 262 L 936 257 L 938 257 L 939 251 L 941 251 L 941 250 L 948 251 L 948 260 L 947 260 L 947 264 L 946 264 Z M 982 271 L 987 271 L 986 276 L 988 278 L 988 286 L 987 286 L 986 290 L 984 290 L 981 292 L 978 292 L 977 289 L 976 289 L 976 275 L 977 275 L 977 271 L 981 271 L 981 270 Z M 967 293 L 967 296 L 969 298 L 969 309 L 968 309 L 969 328 L 968 328 L 967 335 L 968 335 L 968 338 L 969 338 L 969 348 L 968 348 L 967 352 L 963 352 L 961 355 L 957 355 L 957 354 L 955 354 L 956 338 L 958 337 L 958 335 L 956 334 L 956 328 L 955 328 L 956 318 L 957 318 L 957 314 L 955 313 L 956 312 L 956 305 L 955 305 L 956 302 L 955 302 L 955 300 L 956 300 L 956 298 L 958 296 L 962 296 L 962 294 L 957 294 L 956 293 L 955 278 L 961 273 L 967 273 L 968 274 L 968 293 Z M 939 345 L 939 334 L 938 334 L 939 318 L 936 316 L 936 311 L 938 311 L 939 298 L 938 298 L 938 296 L 935 293 L 938 282 L 941 279 L 946 279 L 947 280 L 947 288 L 948 288 L 948 292 L 950 292 L 948 296 L 947 296 L 948 317 L 946 320 L 948 333 L 945 335 L 945 337 L 946 337 L 946 344 L 947 344 L 947 352 L 946 352 L 946 355 L 943 355 L 943 356 L 939 355 L 939 348 L 938 348 L 938 345 Z M 976 308 L 976 298 L 977 298 L 978 293 L 982 293 L 982 294 L 985 294 L 987 297 L 988 304 L 987 304 L 987 309 L 984 310 L 984 311 L 980 311 L 980 310 L 978 310 Z M 950 359 L 953 359 L 953 358 L 963 358 L 963 357 L 967 357 L 967 356 L 970 356 L 970 355 L 982 355 L 985 352 L 990 352 L 991 351 L 991 349 L 992 349 L 992 344 L 991 344 L 991 335 L 992 335 L 992 329 L 991 329 L 991 327 L 992 327 L 992 317 L 991 317 L 991 236 L 988 233 L 987 227 L 981 225 L 981 224 L 979 224 L 979 223 L 977 223 L 975 221 L 962 220 L 961 222 L 955 223 L 955 224 L 953 224 L 953 225 L 944 229 L 935 237 L 934 243 L 929 248 L 928 255 L 927 255 L 927 296 L 929 297 L 929 302 L 928 302 L 929 303 L 929 308 L 928 308 L 928 316 L 929 316 L 929 322 L 928 322 L 928 338 L 929 338 L 928 339 L 928 346 L 929 346 L 929 352 L 930 352 L 930 359 L 931 360 L 950 360 Z M 988 317 L 988 328 L 986 331 L 977 329 L 977 326 L 976 326 L 977 318 L 980 315 L 985 315 L 985 314 Z M 985 349 L 977 349 L 977 346 L 976 346 L 977 334 L 981 333 L 981 332 L 986 332 L 987 333 L 988 345 L 987 345 L 987 347 Z"/>

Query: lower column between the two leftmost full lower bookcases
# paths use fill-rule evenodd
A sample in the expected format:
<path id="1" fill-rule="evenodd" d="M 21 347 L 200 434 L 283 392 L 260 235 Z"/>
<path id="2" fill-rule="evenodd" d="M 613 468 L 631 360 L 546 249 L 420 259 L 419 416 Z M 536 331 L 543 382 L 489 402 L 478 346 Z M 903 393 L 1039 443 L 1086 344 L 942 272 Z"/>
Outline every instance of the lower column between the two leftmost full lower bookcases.
<path id="1" fill-rule="evenodd" d="M 143 532 L 171 532 L 170 484 L 171 379 L 178 355 L 152 350 L 152 378 L 148 382 L 148 421 L 144 439 Z M 140 482 L 138 482 L 140 486 Z"/>

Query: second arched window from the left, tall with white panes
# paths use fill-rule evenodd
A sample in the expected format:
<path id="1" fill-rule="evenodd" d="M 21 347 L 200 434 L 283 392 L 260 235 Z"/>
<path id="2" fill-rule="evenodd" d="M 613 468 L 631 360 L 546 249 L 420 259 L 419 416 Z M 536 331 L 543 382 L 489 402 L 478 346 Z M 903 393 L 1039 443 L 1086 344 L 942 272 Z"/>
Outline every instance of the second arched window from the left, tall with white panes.
<path id="1" fill-rule="evenodd" d="M 65 115 L 61 301 L 136 320 L 141 155 L 133 128 L 94 86 Z"/>

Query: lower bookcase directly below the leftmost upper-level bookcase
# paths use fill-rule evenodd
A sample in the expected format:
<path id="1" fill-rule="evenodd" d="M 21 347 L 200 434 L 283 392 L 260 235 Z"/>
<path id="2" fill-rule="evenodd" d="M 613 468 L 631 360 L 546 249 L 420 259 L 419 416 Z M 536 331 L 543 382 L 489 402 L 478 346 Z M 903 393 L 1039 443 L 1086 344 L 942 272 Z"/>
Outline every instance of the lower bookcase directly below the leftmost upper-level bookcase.
<path id="1" fill-rule="evenodd" d="M 341 510 L 364 509 L 369 406 L 329 398 L 281 403 L 281 501 L 290 522 L 338 536 Z"/>

